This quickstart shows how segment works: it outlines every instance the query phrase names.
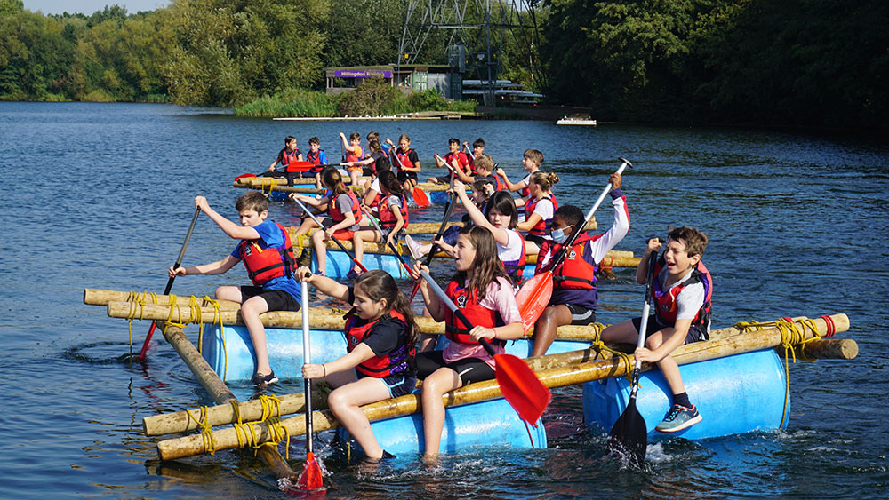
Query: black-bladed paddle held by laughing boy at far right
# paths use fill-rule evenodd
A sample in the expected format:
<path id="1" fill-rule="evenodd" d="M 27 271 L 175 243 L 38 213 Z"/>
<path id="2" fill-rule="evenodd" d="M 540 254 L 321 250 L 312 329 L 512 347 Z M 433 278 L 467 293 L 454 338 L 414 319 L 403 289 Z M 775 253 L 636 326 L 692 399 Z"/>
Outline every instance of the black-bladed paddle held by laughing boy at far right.
<path id="1" fill-rule="evenodd" d="M 648 313 L 651 309 L 652 282 L 654 281 L 654 263 L 658 259 L 658 253 L 652 252 L 648 258 L 648 282 L 645 283 L 645 305 L 642 306 L 642 321 L 639 323 L 639 340 L 636 348 L 645 345 L 645 332 L 648 331 Z M 645 417 L 636 408 L 636 393 L 639 389 L 639 373 L 642 361 L 636 359 L 633 365 L 633 381 L 630 383 L 629 401 L 627 409 L 623 410 L 621 417 L 614 422 L 611 433 L 608 434 L 608 451 L 612 454 L 627 453 L 633 464 L 642 464 L 645 461 L 645 449 L 648 448 L 648 427 L 645 425 Z"/>

